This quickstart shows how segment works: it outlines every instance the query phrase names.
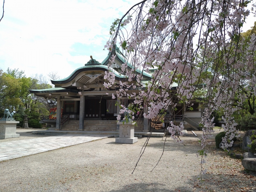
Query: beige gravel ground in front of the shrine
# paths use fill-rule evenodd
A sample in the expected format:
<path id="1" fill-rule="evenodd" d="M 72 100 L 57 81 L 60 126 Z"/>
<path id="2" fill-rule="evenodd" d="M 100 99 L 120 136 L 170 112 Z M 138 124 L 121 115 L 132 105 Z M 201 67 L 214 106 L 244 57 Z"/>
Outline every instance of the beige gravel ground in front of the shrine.
<path id="1" fill-rule="evenodd" d="M 256 191 L 255 175 L 244 171 L 241 160 L 215 149 L 215 142 L 207 147 L 204 181 L 198 180 L 201 132 L 196 134 L 182 137 L 186 146 L 167 138 L 152 172 L 163 151 L 162 138 L 149 140 L 133 174 L 146 138 L 132 145 L 107 138 L 0 162 L 0 191 Z"/>

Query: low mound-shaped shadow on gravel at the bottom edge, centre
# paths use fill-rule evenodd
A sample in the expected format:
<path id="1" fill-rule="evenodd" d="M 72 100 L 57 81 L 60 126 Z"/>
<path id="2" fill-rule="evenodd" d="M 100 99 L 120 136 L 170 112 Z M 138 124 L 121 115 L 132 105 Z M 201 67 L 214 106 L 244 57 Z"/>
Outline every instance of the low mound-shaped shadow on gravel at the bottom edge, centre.
<path id="1" fill-rule="evenodd" d="M 171 190 L 168 189 L 167 185 L 159 183 L 136 183 L 136 184 L 127 184 L 122 186 L 122 188 L 117 190 L 110 190 L 111 192 L 135 192 L 135 191 L 145 191 L 145 192 L 177 192 L 178 190 L 182 192 L 190 192 L 188 188 L 179 187 L 177 189 Z"/>

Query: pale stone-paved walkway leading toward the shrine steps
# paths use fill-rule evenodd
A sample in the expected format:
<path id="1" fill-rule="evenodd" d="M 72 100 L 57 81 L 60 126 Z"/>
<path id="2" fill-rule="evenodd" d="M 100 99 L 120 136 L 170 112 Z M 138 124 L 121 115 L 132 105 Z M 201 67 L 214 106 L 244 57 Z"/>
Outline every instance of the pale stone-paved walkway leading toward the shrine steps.
<path id="1" fill-rule="evenodd" d="M 17 157 L 42 153 L 79 143 L 113 137 L 111 135 L 81 135 L 68 134 L 51 137 L 41 137 L 28 140 L 7 141 L 0 143 L 0 161 Z"/>

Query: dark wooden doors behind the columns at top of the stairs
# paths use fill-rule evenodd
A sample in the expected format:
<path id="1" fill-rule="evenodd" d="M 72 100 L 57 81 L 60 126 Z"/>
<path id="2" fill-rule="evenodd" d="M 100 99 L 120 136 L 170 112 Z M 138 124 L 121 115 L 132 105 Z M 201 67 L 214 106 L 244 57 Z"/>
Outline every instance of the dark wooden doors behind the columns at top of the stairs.
<path id="1" fill-rule="evenodd" d="M 100 118 L 100 100 L 85 100 L 84 118 Z"/>

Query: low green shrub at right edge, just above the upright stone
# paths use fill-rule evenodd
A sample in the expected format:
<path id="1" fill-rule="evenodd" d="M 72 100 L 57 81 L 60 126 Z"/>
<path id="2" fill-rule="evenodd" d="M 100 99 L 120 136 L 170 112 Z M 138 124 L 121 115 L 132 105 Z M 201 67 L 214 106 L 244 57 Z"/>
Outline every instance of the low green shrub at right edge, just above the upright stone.
<path id="1" fill-rule="evenodd" d="M 247 114 L 237 121 L 237 128 L 241 128 L 241 130 L 250 130 L 256 129 L 256 114 Z"/>

